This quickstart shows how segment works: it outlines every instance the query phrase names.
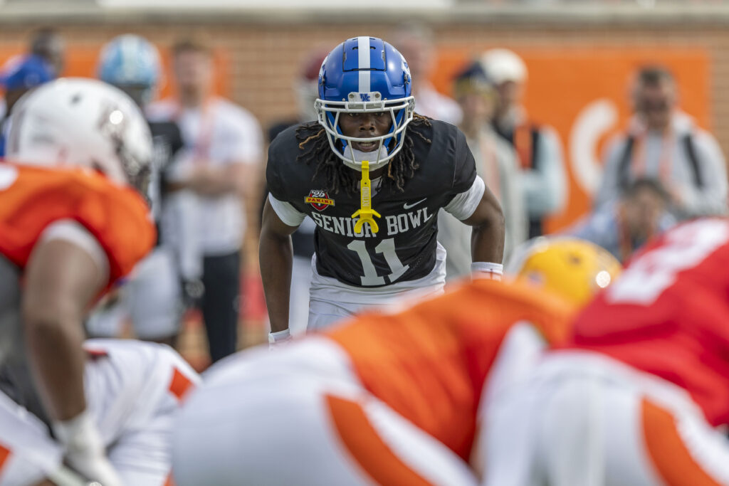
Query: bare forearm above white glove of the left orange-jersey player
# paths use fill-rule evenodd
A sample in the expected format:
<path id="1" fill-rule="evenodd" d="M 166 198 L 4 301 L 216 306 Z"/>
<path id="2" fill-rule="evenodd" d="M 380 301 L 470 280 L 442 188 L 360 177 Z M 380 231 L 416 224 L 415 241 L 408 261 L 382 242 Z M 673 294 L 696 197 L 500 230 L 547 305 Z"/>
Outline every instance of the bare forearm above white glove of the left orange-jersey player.
<path id="1" fill-rule="evenodd" d="M 34 310 L 24 316 L 34 378 L 55 421 L 69 420 L 86 409 L 83 327 L 80 315 L 71 314 Z"/>

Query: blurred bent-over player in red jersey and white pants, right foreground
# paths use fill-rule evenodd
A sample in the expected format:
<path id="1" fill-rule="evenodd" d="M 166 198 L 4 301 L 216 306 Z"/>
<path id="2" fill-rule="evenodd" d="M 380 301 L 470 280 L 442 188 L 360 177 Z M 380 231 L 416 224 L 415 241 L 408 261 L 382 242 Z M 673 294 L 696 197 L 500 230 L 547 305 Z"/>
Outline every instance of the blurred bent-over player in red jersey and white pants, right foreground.
<path id="1" fill-rule="evenodd" d="M 486 485 L 729 485 L 729 220 L 653 240 L 483 423 Z"/>

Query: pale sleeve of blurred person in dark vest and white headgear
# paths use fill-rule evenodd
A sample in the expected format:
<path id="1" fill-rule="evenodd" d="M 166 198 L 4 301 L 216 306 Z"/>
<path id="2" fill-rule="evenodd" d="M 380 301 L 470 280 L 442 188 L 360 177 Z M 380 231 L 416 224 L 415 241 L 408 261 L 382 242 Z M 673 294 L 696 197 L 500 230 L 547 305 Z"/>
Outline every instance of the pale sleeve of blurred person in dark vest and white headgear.
<path id="1" fill-rule="evenodd" d="M 560 211 L 567 197 L 564 157 L 557 133 L 542 128 L 539 135 L 536 169 L 521 173 L 526 211 L 531 217 Z"/>

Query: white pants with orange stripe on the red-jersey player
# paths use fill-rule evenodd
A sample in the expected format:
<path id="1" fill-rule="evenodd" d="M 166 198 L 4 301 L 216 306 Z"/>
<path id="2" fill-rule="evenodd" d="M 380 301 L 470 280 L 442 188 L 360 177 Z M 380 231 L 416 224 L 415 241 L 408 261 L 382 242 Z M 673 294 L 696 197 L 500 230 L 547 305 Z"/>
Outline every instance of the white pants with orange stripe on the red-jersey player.
<path id="1" fill-rule="evenodd" d="M 597 353 L 547 356 L 496 396 L 486 485 L 729 485 L 729 442 L 671 383 Z"/>

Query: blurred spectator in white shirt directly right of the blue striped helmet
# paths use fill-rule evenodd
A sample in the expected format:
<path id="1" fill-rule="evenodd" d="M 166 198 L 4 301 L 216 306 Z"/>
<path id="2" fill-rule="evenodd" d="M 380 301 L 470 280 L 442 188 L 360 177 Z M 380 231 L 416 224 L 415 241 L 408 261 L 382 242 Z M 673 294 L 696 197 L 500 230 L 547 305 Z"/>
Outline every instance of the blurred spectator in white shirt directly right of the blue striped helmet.
<path id="1" fill-rule="evenodd" d="M 458 103 L 438 93 L 429 81 L 434 67 L 432 31 L 417 23 L 406 23 L 399 26 L 390 39 L 385 40 L 408 60 L 410 76 L 413 78 L 416 113 L 458 125 L 461 121 L 461 108 Z"/>

